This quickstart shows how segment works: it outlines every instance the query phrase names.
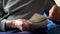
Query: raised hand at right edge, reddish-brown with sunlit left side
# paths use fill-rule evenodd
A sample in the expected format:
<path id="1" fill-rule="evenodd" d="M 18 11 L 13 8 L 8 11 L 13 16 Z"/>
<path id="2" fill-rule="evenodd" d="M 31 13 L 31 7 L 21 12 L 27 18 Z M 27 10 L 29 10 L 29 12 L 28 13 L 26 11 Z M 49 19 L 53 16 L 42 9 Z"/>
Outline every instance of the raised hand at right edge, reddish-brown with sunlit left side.
<path id="1" fill-rule="evenodd" d="M 50 11 L 49 11 L 49 19 L 52 19 L 54 21 L 60 20 L 60 8 L 57 7 L 57 5 L 54 5 Z"/>

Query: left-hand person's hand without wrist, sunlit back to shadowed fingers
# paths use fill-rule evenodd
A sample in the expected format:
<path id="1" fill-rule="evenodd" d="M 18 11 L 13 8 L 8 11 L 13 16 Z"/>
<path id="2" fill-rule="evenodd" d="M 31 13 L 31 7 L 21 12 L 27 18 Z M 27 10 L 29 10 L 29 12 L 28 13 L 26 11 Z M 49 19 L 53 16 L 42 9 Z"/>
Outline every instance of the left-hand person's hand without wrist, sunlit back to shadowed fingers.
<path id="1" fill-rule="evenodd" d="M 38 29 L 36 25 L 30 24 L 29 22 L 30 21 L 25 19 L 19 19 L 19 20 L 15 20 L 14 24 L 21 31 L 23 30 L 32 31 L 32 30 Z"/>

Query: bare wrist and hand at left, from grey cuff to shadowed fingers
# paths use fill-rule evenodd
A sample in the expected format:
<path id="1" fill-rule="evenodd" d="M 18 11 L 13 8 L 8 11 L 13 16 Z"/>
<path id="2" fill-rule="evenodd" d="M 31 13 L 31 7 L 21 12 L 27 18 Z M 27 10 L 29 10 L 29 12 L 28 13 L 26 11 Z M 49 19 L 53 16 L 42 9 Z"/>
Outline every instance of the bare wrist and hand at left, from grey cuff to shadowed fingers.
<path id="1" fill-rule="evenodd" d="M 30 22 L 29 20 L 25 20 L 25 19 L 7 21 L 6 27 L 17 28 L 21 31 L 23 30 L 32 31 L 38 29 L 36 25 L 30 24 L 29 22 Z"/>

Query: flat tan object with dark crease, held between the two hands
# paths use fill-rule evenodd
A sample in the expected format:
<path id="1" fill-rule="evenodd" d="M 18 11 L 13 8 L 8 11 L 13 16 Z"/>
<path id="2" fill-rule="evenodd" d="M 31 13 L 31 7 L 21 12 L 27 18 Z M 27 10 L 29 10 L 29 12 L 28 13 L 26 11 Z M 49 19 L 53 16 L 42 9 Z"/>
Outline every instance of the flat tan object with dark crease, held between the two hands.
<path id="1" fill-rule="evenodd" d="M 39 28 L 44 28 L 46 27 L 48 20 L 47 17 L 40 15 L 38 13 L 35 13 L 31 18 L 30 18 L 31 24 L 38 26 Z"/>

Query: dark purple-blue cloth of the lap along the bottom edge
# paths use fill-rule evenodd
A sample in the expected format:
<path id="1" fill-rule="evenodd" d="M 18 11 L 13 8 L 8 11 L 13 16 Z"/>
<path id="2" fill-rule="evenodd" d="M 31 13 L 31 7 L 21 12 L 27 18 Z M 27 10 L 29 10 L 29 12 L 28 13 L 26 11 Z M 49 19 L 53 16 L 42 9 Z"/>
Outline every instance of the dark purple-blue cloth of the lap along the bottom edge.
<path id="1" fill-rule="evenodd" d="M 11 30 L 6 32 L 0 32 L 0 34 L 47 34 L 46 29 L 38 29 L 34 31 L 19 31 L 19 30 Z"/>

